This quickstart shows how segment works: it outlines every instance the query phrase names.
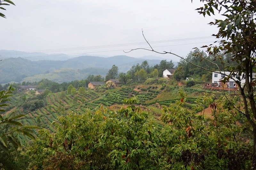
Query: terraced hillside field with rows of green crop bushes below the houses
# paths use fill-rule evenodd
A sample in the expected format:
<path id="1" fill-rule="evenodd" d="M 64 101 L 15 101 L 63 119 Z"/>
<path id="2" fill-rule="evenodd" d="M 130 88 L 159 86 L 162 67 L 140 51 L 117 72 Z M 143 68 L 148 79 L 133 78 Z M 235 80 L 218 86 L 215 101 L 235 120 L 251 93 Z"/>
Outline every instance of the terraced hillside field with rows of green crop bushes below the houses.
<path id="1" fill-rule="evenodd" d="M 105 106 L 118 104 L 121 106 L 124 99 L 136 96 L 138 99 L 137 104 L 140 104 L 142 109 L 151 110 L 150 112 L 152 112 L 152 116 L 157 120 L 160 116 L 159 112 L 161 110 L 161 105 L 169 106 L 171 103 L 179 100 L 179 98 L 177 98 L 176 87 L 171 88 L 173 92 L 176 93 L 175 97 L 169 96 L 169 98 L 161 101 L 159 101 L 157 96 L 161 93 L 166 93 L 166 90 L 164 88 L 160 88 L 159 86 L 148 86 L 139 89 L 140 90 L 138 90 L 138 87 L 124 87 L 106 90 L 103 93 L 88 90 L 83 95 L 76 94 L 74 96 L 67 94 L 63 95 L 63 92 L 62 94 L 61 92 L 50 93 L 43 99 L 44 107 L 41 107 L 35 111 L 27 111 L 19 107 L 19 105 L 24 102 L 24 100 L 22 100 L 22 96 L 26 95 L 26 97 L 28 98 L 33 97 L 33 95 L 35 94 L 17 93 L 12 97 L 11 101 L 8 101 L 8 104 L 10 104 L 11 106 L 9 106 L 6 110 L 13 109 L 15 106 L 17 106 L 17 108 L 13 110 L 17 113 L 22 113 L 26 115 L 25 119 L 23 119 L 23 124 L 37 125 L 42 128 L 48 128 L 51 131 L 54 131 L 52 122 L 56 121 L 58 116 L 65 115 L 68 112 L 83 113 L 88 108 L 94 111 L 96 107 L 100 106 L 100 104 L 103 104 Z M 188 89 L 188 91 L 191 93 L 193 90 Z M 196 100 L 196 98 L 198 97 L 187 98 L 188 108 L 194 106 L 192 103 Z M 154 111 L 154 109 L 152 109 L 153 107 L 156 107 L 157 111 Z M 159 120 L 157 121 L 159 122 Z"/>

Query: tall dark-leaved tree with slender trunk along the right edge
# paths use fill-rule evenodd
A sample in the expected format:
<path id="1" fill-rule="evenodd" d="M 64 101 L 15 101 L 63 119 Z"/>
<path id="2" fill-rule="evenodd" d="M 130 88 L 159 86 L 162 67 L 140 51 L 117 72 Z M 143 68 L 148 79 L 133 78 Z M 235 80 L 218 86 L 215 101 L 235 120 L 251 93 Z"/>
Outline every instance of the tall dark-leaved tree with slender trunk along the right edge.
<path id="1" fill-rule="evenodd" d="M 217 41 L 218 45 L 211 44 L 203 47 L 207 48 L 207 52 L 213 56 L 215 61 L 225 66 L 222 70 L 230 71 L 222 82 L 225 83 L 230 78 L 236 82 L 244 104 L 244 111 L 241 113 L 253 128 L 253 139 L 256 139 L 255 77 L 253 76 L 256 53 L 256 43 L 254 41 L 256 37 L 255 1 L 209 0 L 205 2 L 203 7 L 196 10 L 204 16 L 206 14 L 214 15 L 216 11 L 222 16 L 220 19 L 214 19 L 213 22 L 209 23 L 219 28 L 217 34 L 213 34 L 217 39 L 220 38 Z M 232 65 L 226 66 L 225 58 L 220 54 L 227 55 L 229 53 L 231 54 L 227 58 L 233 62 Z M 245 83 L 242 84 L 240 80 L 235 80 L 236 75 L 243 75 Z M 236 107 L 236 110 L 240 111 L 240 106 Z M 255 169 L 255 167 L 256 140 L 253 140 L 251 168 Z"/>

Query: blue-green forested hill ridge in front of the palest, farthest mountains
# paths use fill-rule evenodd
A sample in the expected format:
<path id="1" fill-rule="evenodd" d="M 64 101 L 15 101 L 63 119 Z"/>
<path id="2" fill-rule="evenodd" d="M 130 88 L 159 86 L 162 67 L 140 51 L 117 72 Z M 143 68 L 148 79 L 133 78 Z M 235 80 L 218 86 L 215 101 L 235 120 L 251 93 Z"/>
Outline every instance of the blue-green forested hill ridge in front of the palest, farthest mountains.
<path id="1" fill-rule="evenodd" d="M 95 74 L 95 70 L 88 68 L 110 69 L 118 66 L 119 72 L 128 71 L 133 65 L 145 59 L 128 56 L 114 56 L 109 58 L 95 56 L 80 56 L 65 61 L 40 60 L 30 61 L 25 58 L 8 58 L 0 62 L 0 83 L 10 81 L 20 82 L 23 78 L 37 74 L 51 73 L 62 68 L 87 69 L 87 74 Z M 161 60 L 147 60 L 149 65 L 159 64 Z M 64 81 L 64 80 L 63 80 Z"/>

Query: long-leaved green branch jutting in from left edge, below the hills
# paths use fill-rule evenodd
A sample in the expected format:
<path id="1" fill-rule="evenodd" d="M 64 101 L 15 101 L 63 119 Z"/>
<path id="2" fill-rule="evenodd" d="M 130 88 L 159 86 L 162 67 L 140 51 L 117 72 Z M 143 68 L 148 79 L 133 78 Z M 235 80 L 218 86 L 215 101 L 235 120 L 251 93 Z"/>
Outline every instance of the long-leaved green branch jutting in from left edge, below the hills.
<path id="1" fill-rule="evenodd" d="M 10 100 L 12 91 L 15 89 L 10 86 L 6 91 L 0 91 L 0 112 L 5 112 L 1 107 L 8 106 L 5 102 Z M 21 149 L 20 141 L 17 139 L 17 134 L 26 135 L 31 139 L 35 139 L 33 128 L 39 128 L 37 126 L 23 126 L 19 121 L 15 119 L 25 116 L 24 114 L 15 114 L 15 112 L 9 115 L 0 115 L 0 151 L 9 152 L 9 144 L 12 144 L 14 148 Z"/>

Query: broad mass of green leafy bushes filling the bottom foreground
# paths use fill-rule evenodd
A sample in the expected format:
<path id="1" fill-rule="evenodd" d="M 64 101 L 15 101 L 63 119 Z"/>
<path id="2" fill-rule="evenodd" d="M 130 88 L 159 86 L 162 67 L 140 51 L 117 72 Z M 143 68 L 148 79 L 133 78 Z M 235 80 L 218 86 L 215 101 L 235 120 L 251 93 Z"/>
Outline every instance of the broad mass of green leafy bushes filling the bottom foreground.
<path id="1" fill-rule="evenodd" d="M 137 97 L 125 99 L 118 112 L 101 105 L 94 113 L 58 117 L 56 133 L 39 131 L 28 151 L 29 169 L 247 169 L 250 150 L 236 124 L 241 115 L 225 105 L 226 98 L 213 101 L 205 94 L 189 106 L 185 92 L 178 92 L 180 101 L 163 109 L 164 126 L 148 119 L 148 112 L 135 105 Z M 204 116 L 209 104 L 212 120 Z"/>

